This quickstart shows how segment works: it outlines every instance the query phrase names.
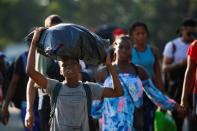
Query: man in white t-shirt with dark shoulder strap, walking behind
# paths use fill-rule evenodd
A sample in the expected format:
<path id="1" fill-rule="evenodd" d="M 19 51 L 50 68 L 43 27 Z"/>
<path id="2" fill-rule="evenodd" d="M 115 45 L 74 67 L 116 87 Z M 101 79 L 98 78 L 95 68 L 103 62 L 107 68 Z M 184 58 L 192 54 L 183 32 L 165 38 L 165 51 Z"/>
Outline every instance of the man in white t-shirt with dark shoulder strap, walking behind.
<path id="1" fill-rule="evenodd" d="M 182 22 L 180 36 L 169 41 L 163 51 L 163 72 L 165 73 L 168 94 L 177 102 L 181 102 L 181 94 L 184 73 L 187 67 L 187 50 L 194 40 L 197 22 L 193 18 L 187 18 Z M 183 119 L 177 112 L 172 112 L 178 131 L 182 130 Z"/>

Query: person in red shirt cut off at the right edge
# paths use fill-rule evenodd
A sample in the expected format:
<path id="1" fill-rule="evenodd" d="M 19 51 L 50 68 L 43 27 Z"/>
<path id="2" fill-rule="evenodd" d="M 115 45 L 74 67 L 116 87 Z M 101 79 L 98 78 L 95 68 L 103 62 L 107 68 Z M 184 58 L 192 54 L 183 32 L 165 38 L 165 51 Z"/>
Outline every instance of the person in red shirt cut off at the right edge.
<path id="1" fill-rule="evenodd" d="M 197 130 L 197 40 L 191 43 L 187 52 L 187 69 L 185 71 L 181 105 L 192 111 L 193 123 L 189 121 L 189 131 Z M 192 108 L 189 105 L 190 94 L 194 95 Z M 189 114 L 191 115 L 191 114 Z"/>

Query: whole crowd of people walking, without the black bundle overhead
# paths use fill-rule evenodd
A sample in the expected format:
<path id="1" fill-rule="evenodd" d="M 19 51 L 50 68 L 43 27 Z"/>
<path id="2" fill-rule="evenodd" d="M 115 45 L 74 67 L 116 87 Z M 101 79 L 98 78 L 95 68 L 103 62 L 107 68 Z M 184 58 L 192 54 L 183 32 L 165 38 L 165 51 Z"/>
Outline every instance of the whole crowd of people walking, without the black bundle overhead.
<path id="1" fill-rule="evenodd" d="M 163 131 L 170 125 L 156 127 L 158 108 L 172 112 L 173 131 L 197 130 L 194 18 L 183 20 L 163 57 L 145 23 L 114 28 L 108 37 L 114 52 L 98 66 L 69 57 L 53 60 L 36 50 L 42 31 L 60 23 L 60 16 L 48 16 L 34 30 L 29 50 L 12 64 L 0 52 L 2 124 L 9 122 L 12 101 L 26 131 Z"/>

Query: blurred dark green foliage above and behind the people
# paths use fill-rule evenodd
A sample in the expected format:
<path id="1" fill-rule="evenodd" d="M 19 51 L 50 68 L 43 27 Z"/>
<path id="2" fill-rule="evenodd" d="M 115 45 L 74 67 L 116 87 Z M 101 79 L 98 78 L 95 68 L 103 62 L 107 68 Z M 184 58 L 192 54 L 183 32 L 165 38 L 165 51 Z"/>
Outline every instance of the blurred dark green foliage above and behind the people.
<path id="1" fill-rule="evenodd" d="M 134 21 L 143 21 L 151 43 L 163 50 L 183 18 L 197 18 L 196 7 L 197 0 L 0 0 L 0 48 L 23 41 L 30 29 L 55 13 L 90 29 L 111 24 L 127 30 Z"/>

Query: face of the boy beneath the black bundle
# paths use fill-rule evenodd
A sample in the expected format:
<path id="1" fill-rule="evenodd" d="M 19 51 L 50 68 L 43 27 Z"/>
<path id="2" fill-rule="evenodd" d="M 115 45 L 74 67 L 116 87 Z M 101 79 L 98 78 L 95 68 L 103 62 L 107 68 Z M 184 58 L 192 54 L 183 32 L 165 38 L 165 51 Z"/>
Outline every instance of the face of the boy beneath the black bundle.
<path id="1" fill-rule="evenodd" d="M 60 73 L 67 79 L 78 78 L 80 65 L 76 59 L 65 59 L 59 62 Z"/>

